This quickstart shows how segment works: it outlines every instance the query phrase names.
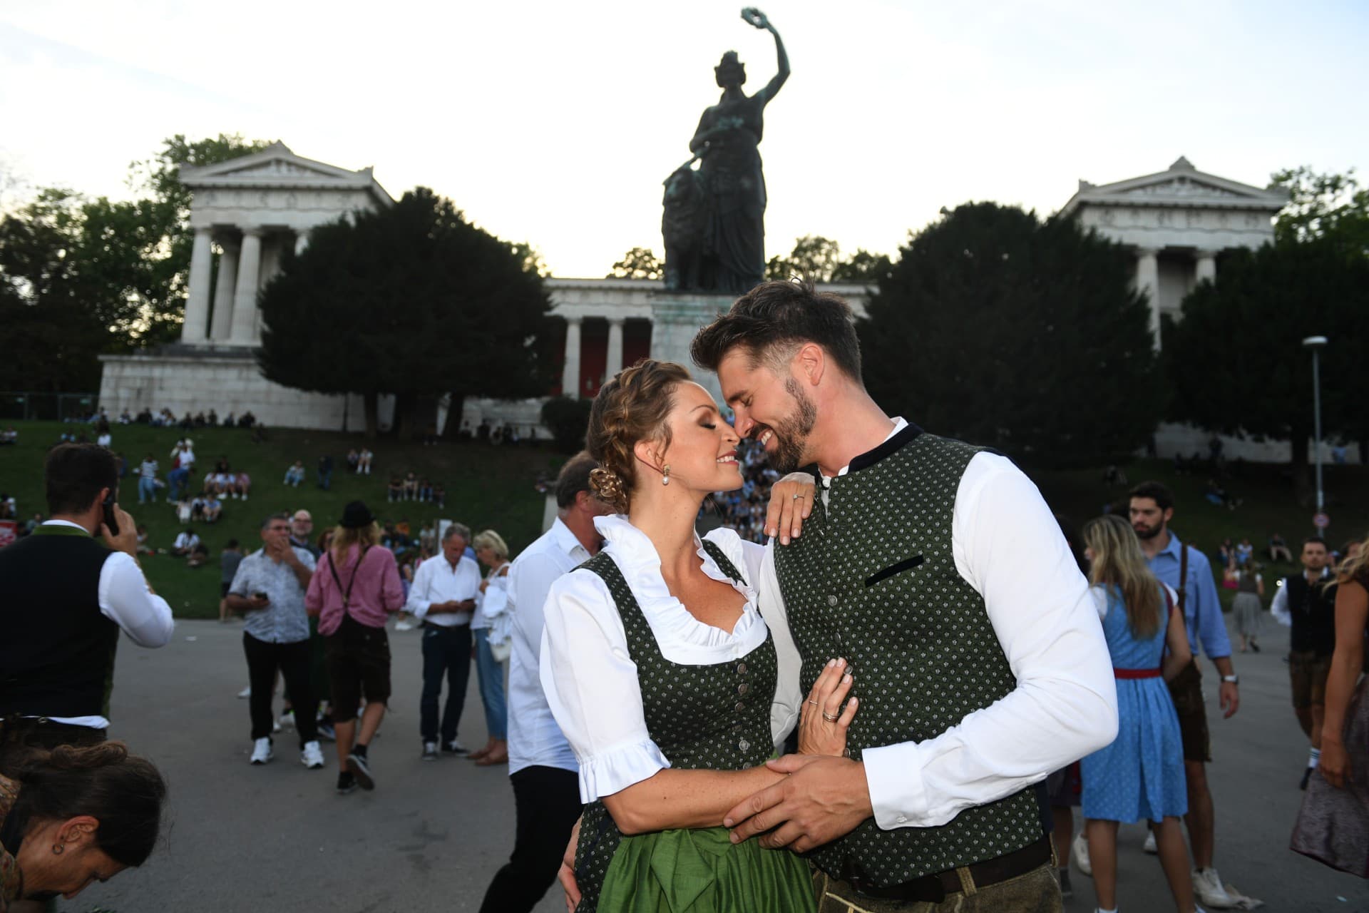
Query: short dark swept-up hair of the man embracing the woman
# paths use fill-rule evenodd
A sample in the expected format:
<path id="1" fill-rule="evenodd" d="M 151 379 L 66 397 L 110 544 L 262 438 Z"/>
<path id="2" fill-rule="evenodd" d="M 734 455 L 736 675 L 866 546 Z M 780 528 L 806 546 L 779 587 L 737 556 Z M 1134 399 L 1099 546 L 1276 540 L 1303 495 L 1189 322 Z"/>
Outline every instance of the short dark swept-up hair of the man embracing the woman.
<path id="1" fill-rule="evenodd" d="M 850 305 L 830 292 L 817 292 L 806 279 L 756 286 L 698 331 L 690 356 L 698 367 L 717 371 L 723 356 L 735 346 L 742 346 L 756 365 L 787 357 L 805 342 L 823 346 L 843 374 L 864 383 Z"/>

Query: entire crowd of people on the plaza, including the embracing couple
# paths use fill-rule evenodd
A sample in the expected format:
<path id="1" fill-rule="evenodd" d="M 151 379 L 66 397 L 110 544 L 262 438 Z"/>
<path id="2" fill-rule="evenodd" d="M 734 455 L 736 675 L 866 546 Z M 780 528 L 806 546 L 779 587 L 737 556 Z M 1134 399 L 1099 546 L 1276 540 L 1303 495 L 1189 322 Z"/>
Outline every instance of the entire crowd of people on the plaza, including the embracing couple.
<path id="1" fill-rule="evenodd" d="M 515 843 L 486 913 L 531 910 L 557 876 L 580 913 L 1058 910 L 1071 857 L 1114 913 L 1118 827 L 1138 821 L 1180 913 L 1258 905 L 1216 868 L 1203 664 L 1224 719 L 1240 679 L 1172 491 L 1136 485 L 1125 516 L 1075 535 L 1006 457 L 884 413 L 850 318 L 768 282 L 701 330 L 694 359 L 731 420 L 680 365 L 609 379 L 586 452 L 550 486 L 550 528 L 517 556 L 461 523 L 415 538 L 361 501 L 318 538 L 308 512 L 264 516 L 260 548 L 220 556 L 220 612 L 244 619 L 249 762 L 275 758 L 279 676 L 300 762 L 326 769 L 331 738 L 335 791 L 375 788 L 370 751 L 400 699 L 387 626 L 404 615 L 422 631 L 418 757 L 508 764 Z M 73 856 L 90 842 L 88 880 L 151 853 L 82 831 L 110 814 L 93 805 L 36 813 L 55 769 L 78 771 L 75 795 L 88 771 L 129 765 L 144 784 L 130 814 L 153 836 L 164 797 L 126 749 L 82 751 L 110 727 L 112 642 L 166 643 L 170 609 L 136 564 L 133 519 L 110 511 L 112 454 L 63 443 L 47 472 L 52 519 L 0 549 L 0 587 L 25 597 L 0 604 L 0 682 L 18 683 L 0 690 L 5 901 L 59 890 L 33 835 Z M 708 498 L 724 523 L 700 538 Z M 1247 545 L 1229 560 L 1253 571 Z M 1310 742 L 1294 849 L 1365 876 L 1369 561 L 1347 549 L 1331 569 L 1316 538 L 1299 558 L 1272 606 Z M 40 597 L 44 613 L 18 608 Z M 460 741 L 472 660 L 478 751 Z"/>

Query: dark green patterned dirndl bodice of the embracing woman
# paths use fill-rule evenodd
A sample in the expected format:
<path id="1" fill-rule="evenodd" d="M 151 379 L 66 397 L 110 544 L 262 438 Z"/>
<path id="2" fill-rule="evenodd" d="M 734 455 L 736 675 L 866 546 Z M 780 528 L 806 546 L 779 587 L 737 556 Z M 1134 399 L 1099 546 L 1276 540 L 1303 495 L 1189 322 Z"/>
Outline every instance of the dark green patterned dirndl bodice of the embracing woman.
<path id="1" fill-rule="evenodd" d="M 704 549 L 723 574 L 738 582 L 743 579 L 721 549 L 706 539 Z M 600 552 L 580 568 L 597 574 L 613 595 L 642 686 L 646 731 L 672 768 L 741 771 L 775 754 L 769 719 L 779 663 L 768 632 L 764 643 L 735 663 L 671 663 L 661 656 L 656 635 L 613 558 Z M 576 913 L 598 908 L 604 875 L 622 839 L 602 802 L 585 806 L 575 847 L 575 879 L 580 887 Z"/>

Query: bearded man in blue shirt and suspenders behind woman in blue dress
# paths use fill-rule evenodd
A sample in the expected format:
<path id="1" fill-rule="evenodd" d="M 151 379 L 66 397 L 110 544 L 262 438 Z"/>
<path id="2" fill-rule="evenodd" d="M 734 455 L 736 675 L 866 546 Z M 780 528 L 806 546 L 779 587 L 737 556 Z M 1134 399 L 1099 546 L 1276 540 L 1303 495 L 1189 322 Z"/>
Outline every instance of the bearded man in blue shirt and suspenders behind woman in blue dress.
<path id="1" fill-rule="evenodd" d="M 1202 697 L 1202 672 L 1198 669 L 1198 647 L 1202 646 L 1202 652 L 1221 675 L 1218 702 L 1223 719 L 1229 719 L 1240 706 L 1239 679 L 1231 665 L 1231 638 L 1221 617 L 1212 565 L 1202 552 L 1183 545 L 1169 531 L 1173 516 L 1175 496 L 1160 482 L 1142 482 L 1131 490 L 1131 527 L 1140 538 L 1140 549 L 1146 553 L 1151 572 L 1180 594 L 1188 645 L 1194 654 L 1192 664 L 1169 683 L 1184 743 L 1184 775 L 1188 780 L 1188 814 L 1184 820 L 1197 866 L 1192 873 L 1194 891 L 1203 903 L 1231 906 L 1231 897 L 1212 865 L 1214 813 L 1205 767 L 1212 761 L 1212 743 Z"/>

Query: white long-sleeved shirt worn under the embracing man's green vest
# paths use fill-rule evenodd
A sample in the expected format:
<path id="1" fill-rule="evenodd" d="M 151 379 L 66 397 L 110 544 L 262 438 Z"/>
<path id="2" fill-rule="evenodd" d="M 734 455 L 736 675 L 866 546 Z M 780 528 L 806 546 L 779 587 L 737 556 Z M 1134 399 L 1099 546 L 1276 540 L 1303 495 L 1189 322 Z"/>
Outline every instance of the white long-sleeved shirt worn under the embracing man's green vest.
<path id="1" fill-rule="evenodd" d="M 906 426 L 897 419 L 888 437 Z M 823 482 L 826 501 L 831 480 Z M 1006 457 L 977 453 L 967 465 L 956 491 L 951 554 L 984 598 L 1017 687 L 936 738 L 862 751 L 875 821 L 886 830 L 946 824 L 1117 736 L 1117 687 L 1088 582 L 1036 486 Z M 771 627 L 787 627 L 772 552 L 760 597 Z M 782 699 L 797 720 L 797 669 L 784 684 Z"/>

